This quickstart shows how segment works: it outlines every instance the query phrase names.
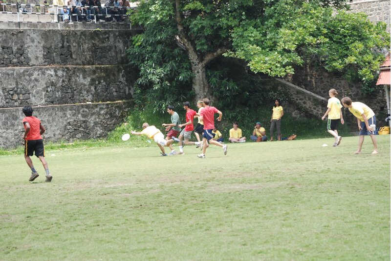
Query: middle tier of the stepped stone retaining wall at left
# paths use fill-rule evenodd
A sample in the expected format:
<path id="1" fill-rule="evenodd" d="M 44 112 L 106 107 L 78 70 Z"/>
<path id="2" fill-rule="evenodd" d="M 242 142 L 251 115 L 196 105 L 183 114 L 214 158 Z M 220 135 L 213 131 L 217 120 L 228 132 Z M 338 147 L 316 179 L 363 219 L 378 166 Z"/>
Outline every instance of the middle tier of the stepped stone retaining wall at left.
<path id="1" fill-rule="evenodd" d="M 129 65 L 0 68 L 0 108 L 130 100 Z"/>

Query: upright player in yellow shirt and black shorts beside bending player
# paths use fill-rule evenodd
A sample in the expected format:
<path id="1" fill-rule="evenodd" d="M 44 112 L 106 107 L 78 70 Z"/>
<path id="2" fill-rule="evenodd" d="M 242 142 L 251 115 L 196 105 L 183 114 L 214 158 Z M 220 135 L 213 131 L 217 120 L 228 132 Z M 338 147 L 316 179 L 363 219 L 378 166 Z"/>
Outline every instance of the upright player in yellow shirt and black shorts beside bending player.
<path id="1" fill-rule="evenodd" d="M 341 120 L 341 123 L 344 124 L 344 118 L 342 117 L 342 105 L 341 101 L 338 100 L 336 97 L 338 95 L 337 90 L 330 89 L 328 91 L 328 96 L 330 99 L 328 99 L 327 102 L 327 110 L 325 112 L 325 115 L 323 115 L 322 120 L 325 120 L 326 116 L 328 115 L 327 119 L 327 132 L 330 133 L 335 138 L 335 142 L 333 144 L 333 147 L 338 146 L 341 143 L 342 137 L 338 136 L 338 124 Z"/>

